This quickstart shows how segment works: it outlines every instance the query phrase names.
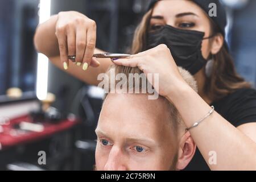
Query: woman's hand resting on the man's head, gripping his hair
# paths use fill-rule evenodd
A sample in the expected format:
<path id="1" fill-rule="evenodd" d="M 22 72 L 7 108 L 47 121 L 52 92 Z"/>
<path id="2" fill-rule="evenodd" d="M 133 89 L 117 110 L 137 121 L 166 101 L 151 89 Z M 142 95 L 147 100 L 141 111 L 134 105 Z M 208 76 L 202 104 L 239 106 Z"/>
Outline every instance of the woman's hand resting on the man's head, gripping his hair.
<path id="1" fill-rule="evenodd" d="M 126 67 L 138 67 L 146 75 L 148 73 L 159 74 L 159 88 L 156 88 L 155 81 L 151 82 L 151 79 L 148 81 L 154 86 L 156 92 L 164 97 L 170 95 L 177 86 L 187 85 L 177 69 L 170 49 L 164 44 L 132 55 L 127 59 L 113 60 L 113 62 Z M 152 77 L 154 78 L 154 76 Z"/>

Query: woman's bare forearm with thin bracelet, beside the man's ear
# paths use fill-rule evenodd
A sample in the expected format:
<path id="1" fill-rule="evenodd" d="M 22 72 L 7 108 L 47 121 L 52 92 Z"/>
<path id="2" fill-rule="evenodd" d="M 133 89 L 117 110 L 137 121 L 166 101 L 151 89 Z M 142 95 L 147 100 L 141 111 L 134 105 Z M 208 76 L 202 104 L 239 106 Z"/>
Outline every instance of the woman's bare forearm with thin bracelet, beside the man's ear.
<path id="1" fill-rule="evenodd" d="M 189 86 L 179 86 L 167 97 L 179 110 L 187 127 L 204 117 L 210 106 Z M 214 112 L 190 130 L 212 170 L 256 170 L 256 143 Z M 216 164 L 209 159 L 216 154 Z"/>

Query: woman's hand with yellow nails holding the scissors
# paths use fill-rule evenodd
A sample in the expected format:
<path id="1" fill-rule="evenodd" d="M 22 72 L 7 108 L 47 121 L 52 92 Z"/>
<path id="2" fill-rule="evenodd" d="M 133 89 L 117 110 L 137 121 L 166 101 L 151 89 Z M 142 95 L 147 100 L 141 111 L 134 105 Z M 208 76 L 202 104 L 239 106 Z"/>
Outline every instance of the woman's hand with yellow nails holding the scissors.
<path id="1" fill-rule="evenodd" d="M 93 58 L 96 46 L 96 23 L 76 11 L 60 12 L 56 22 L 56 36 L 59 43 L 60 59 L 68 69 L 68 56 L 76 55 L 76 64 L 86 70 L 89 65 L 98 67 Z"/>

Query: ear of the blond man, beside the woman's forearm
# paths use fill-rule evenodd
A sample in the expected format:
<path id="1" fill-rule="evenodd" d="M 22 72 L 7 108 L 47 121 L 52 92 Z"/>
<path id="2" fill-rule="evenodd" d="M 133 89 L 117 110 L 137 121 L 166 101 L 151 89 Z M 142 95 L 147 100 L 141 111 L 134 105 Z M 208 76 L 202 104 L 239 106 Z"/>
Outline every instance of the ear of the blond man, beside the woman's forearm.
<path id="1" fill-rule="evenodd" d="M 191 162 L 195 151 L 196 144 L 189 131 L 187 131 L 180 139 L 176 170 L 182 170 L 187 167 L 189 162 Z"/>

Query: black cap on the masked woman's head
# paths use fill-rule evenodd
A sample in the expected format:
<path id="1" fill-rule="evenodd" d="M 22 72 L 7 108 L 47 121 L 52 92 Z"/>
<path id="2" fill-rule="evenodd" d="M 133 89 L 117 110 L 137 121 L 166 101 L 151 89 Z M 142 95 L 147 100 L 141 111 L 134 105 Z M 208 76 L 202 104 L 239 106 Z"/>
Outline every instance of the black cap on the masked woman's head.
<path id="1" fill-rule="evenodd" d="M 155 3 L 158 2 L 158 1 L 160 1 L 160 0 L 151 0 L 148 10 L 150 10 L 152 7 L 154 7 Z M 220 1 L 218 1 L 218 0 L 192 0 L 192 1 L 195 2 L 198 6 L 200 6 L 201 9 L 203 9 L 205 11 L 205 13 L 207 13 L 209 18 L 212 19 L 213 22 L 217 24 L 217 26 L 221 30 L 221 34 L 225 38 L 225 27 L 226 27 L 226 24 L 227 24 L 226 10 L 225 10 L 225 7 L 220 3 Z M 210 16 L 209 15 L 209 11 L 212 9 L 212 7 L 209 7 L 209 5 L 211 3 L 215 3 L 215 5 L 216 5 L 216 10 L 217 10 L 216 15 L 217 16 Z"/>

